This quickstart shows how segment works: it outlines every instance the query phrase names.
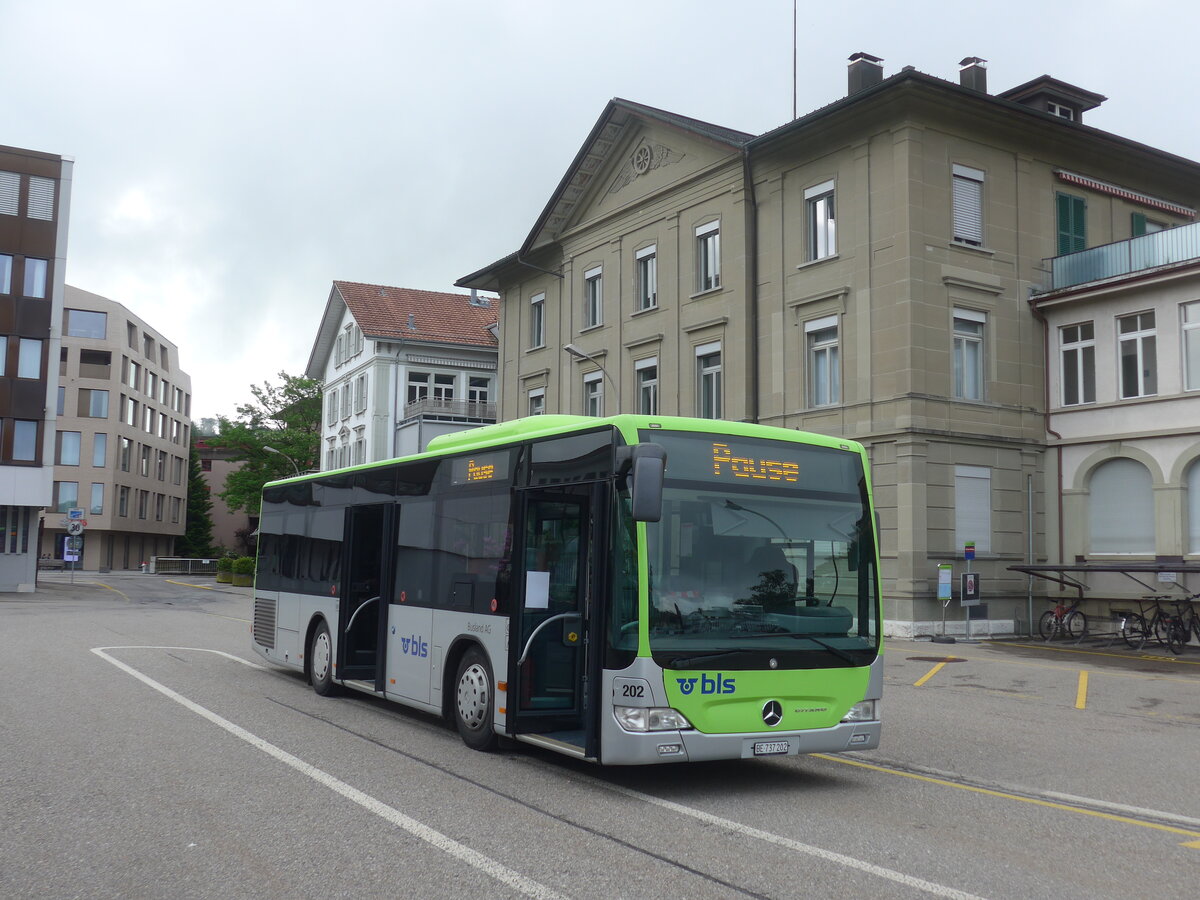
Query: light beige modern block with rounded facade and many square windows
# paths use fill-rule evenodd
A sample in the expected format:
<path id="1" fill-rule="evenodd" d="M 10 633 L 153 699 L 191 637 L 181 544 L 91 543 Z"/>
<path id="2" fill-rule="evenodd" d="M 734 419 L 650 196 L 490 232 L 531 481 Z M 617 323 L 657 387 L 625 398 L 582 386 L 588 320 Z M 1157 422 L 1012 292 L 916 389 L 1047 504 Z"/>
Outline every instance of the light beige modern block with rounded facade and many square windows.
<path id="1" fill-rule="evenodd" d="M 67 286 L 53 497 L 41 553 L 62 559 L 84 510 L 82 569 L 137 569 L 184 533 L 192 379 L 179 348 L 115 300 Z"/>

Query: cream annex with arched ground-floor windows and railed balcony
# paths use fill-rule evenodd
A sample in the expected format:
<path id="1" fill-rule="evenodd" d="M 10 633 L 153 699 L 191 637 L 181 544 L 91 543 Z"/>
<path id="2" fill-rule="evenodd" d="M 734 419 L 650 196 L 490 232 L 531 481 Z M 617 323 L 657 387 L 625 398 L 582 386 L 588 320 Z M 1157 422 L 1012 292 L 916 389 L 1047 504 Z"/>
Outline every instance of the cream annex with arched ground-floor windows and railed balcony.
<path id="1" fill-rule="evenodd" d="M 1184 587 L 1176 563 L 1200 563 L 1200 223 L 1134 215 L 1139 236 L 1052 259 L 1032 300 L 1046 323 L 1051 546 L 1068 565 L 1170 572 L 1090 575 L 1109 596 Z"/>

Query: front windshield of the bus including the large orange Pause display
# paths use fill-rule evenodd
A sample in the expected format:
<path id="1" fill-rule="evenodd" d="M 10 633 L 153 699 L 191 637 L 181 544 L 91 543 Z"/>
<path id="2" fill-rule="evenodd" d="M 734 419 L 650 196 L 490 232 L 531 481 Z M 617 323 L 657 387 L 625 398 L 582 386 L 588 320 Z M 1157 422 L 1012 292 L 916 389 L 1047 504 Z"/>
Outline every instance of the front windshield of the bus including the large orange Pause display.
<path id="1" fill-rule="evenodd" d="M 644 433 L 667 450 L 647 524 L 649 641 L 668 668 L 865 666 L 878 647 L 860 457 L 743 437 Z"/>

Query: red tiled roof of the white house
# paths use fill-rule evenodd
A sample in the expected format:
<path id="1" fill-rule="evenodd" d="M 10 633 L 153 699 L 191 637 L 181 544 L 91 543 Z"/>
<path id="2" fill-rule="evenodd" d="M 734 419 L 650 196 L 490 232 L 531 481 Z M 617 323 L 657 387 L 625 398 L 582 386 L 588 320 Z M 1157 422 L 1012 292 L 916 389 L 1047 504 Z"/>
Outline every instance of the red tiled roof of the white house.
<path id="1" fill-rule="evenodd" d="M 496 346 L 496 337 L 487 326 L 496 323 L 497 300 L 492 300 L 491 306 L 472 306 L 469 294 L 354 281 L 335 281 L 334 287 L 367 337 Z M 409 320 L 414 325 L 412 329 Z"/>

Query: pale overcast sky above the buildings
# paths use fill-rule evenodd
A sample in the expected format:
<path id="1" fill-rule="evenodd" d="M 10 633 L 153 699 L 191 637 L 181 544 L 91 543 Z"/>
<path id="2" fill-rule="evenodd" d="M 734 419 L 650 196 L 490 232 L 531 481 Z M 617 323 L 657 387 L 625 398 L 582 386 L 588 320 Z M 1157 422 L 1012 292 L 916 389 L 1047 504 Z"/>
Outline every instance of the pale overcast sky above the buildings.
<path id="1" fill-rule="evenodd" d="M 798 109 L 846 58 L 1106 95 L 1200 160 L 1200 5 L 800 0 Z M 0 0 L 0 144 L 73 157 L 67 283 L 179 344 L 198 419 L 308 361 L 330 283 L 456 290 L 520 246 L 604 104 L 792 118 L 792 0 Z"/>

